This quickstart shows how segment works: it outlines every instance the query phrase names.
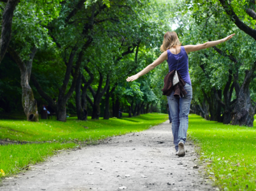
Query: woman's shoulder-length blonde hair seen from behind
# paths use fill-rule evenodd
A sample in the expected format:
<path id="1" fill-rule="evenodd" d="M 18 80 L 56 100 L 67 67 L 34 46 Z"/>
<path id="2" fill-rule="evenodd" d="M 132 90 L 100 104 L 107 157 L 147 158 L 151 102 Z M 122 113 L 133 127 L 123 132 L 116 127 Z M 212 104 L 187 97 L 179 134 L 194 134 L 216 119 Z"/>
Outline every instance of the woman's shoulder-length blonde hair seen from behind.
<path id="1" fill-rule="evenodd" d="M 177 45 L 181 45 L 177 33 L 168 31 L 164 34 L 164 41 L 160 50 L 161 52 L 164 52 L 172 47 L 176 47 Z"/>

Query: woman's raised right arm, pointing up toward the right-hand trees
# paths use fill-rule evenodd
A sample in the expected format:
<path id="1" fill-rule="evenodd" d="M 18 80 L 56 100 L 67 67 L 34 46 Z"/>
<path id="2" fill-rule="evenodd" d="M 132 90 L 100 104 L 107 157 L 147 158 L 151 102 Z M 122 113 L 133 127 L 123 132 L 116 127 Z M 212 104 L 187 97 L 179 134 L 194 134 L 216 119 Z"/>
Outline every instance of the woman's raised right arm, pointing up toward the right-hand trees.
<path id="1" fill-rule="evenodd" d="M 201 49 L 205 49 L 205 48 L 210 48 L 213 46 L 216 46 L 217 44 L 220 44 L 222 42 L 225 42 L 229 39 L 231 39 L 235 34 L 229 35 L 226 38 L 220 39 L 220 40 L 216 40 L 216 41 L 209 41 L 203 44 L 198 44 L 198 45 L 186 45 L 184 46 L 184 49 L 186 50 L 187 53 L 193 52 L 193 51 L 198 51 Z"/>

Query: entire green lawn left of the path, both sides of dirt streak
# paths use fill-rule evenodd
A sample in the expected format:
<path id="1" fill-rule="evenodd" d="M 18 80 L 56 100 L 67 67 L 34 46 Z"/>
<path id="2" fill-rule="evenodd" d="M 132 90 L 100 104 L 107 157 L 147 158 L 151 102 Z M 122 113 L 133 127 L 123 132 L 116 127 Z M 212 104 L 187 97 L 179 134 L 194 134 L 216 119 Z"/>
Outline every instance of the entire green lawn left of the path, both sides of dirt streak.
<path id="1" fill-rule="evenodd" d="M 126 114 L 124 114 L 126 116 Z M 55 120 L 0 120 L 0 139 L 18 141 L 54 141 L 53 143 L 0 145 L 0 169 L 6 176 L 14 175 L 28 164 L 43 161 L 52 151 L 73 148 L 72 140 L 93 141 L 110 136 L 142 131 L 168 119 L 167 114 L 143 114 L 133 118 L 80 121 L 75 117 L 67 122 Z M 0 173 L 1 177 L 2 173 Z"/>

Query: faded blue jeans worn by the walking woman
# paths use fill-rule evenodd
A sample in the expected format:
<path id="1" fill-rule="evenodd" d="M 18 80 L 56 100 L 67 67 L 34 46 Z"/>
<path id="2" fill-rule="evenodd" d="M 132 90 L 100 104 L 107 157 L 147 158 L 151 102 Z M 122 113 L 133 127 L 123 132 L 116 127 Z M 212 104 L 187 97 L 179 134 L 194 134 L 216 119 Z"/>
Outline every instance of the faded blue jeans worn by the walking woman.
<path id="1" fill-rule="evenodd" d="M 187 94 L 184 97 L 174 97 L 174 91 L 167 96 L 169 109 L 172 117 L 172 135 L 175 149 L 178 150 L 179 142 L 186 142 L 188 130 L 188 114 L 190 103 L 192 100 L 192 86 L 186 84 L 184 86 Z"/>

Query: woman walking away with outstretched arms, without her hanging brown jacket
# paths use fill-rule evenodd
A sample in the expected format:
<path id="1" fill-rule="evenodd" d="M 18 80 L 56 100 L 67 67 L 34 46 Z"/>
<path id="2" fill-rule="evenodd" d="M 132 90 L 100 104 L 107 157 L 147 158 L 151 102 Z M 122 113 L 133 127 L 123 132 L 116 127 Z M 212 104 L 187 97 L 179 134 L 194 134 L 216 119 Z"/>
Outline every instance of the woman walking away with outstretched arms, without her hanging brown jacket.
<path id="1" fill-rule="evenodd" d="M 136 75 L 126 79 L 128 82 L 134 81 L 154 69 L 156 66 L 160 65 L 164 60 L 167 60 L 169 72 L 177 70 L 180 73 L 180 76 L 185 82 L 184 89 L 186 90 L 187 94 L 177 97 L 174 96 L 174 91 L 172 91 L 170 95 L 167 96 L 172 118 L 173 142 L 176 149 L 175 154 L 180 157 L 185 156 L 184 144 L 186 143 L 188 114 L 192 100 L 192 85 L 188 73 L 188 53 L 213 47 L 231 39 L 234 35 L 235 34 L 232 34 L 224 39 L 210 41 L 203 44 L 182 46 L 176 32 L 166 32 L 164 35 L 163 44 L 160 48 L 160 50 L 163 52 L 160 57 L 158 57 L 158 59 L 156 59 L 152 64 L 148 65 Z"/>

